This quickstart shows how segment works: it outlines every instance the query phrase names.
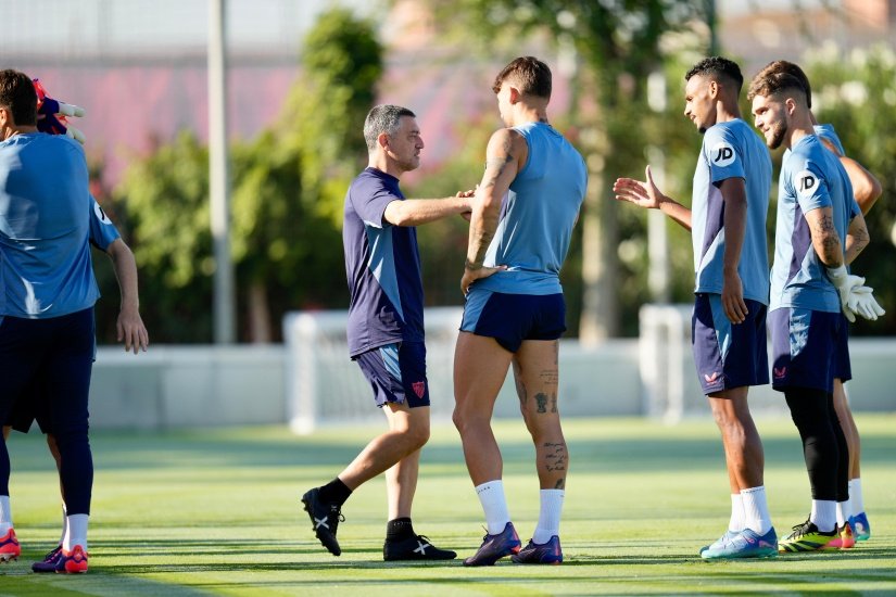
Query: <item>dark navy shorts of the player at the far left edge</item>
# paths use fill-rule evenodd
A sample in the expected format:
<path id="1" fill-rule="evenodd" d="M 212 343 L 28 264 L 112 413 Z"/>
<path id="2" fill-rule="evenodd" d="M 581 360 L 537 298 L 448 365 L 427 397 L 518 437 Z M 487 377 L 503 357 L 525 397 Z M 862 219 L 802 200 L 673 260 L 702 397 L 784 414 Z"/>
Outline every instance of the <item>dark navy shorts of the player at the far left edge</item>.
<path id="1" fill-rule="evenodd" d="M 94 355 L 92 307 L 48 319 L 0 318 L 0 421 L 21 430 L 37 418 L 48 433 L 87 433 Z"/>

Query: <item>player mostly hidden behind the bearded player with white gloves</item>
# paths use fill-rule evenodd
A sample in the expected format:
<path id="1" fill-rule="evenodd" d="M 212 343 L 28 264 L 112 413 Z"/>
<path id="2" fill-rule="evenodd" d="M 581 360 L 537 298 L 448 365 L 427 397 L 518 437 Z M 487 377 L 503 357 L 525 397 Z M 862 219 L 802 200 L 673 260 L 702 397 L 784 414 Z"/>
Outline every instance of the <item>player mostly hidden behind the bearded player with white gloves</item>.
<path id="1" fill-rule="evenodd" d="M 804 73 L 798 65 L 785 60 L 778 60 L 762 68 L 762 73 L 773 72 L 783 72 L 795 76 L 806 90 L 806 105 L 809 109 L 812 107 L 811 85 L 806 73 Z M 815 116 L 812 116 L 812 124 L 815 134 L 824 142 L 825 147 L 840 158 L 841 164 L 846 168 L 846 173 L 849 175 L 849 182 L 853 185 L 853 195 L 856 199 L 856 203 L 858 203 L 862 215 L 867 215 L 874 205 L 874 202 L 881 196 L 882 187 L 880 181 L 861 164 L 846 156 L 846 150 L 832 125 L 818 124 Z M 849 264 L 855 257 L 855 254 L 847 252 L 845 261 Z M 876 317 L 876 313 L 873 312 L 869 313 L 869 315 L 872 319 Z M 848 360 L 846 361 L 846 366 L 849 366 Z M 842 496 L 838 496 L 837 501 L 837 526 L 842 530 L 841 532 L 843 534 L 854 535 L 853 537 L 844 537 L 844 545 L 848 545 L 850 541 L 868 541 L 871 537 L 871 525 L 865 510 L 862 496 L 861 441 L 859 430 L 853 418 L 846 390 L 840 379 L 838 372 L 834 377 L 834 410 L 837 414 L 840 427 L 843 430 L 849 452 L 848 471 L 840 471 L 841 474 L 844 472 L 848 473 L 849 495 L 845 500 L 842 500 Z M 844 524 L 845 521 L 848 521 L 848 524 Z"/>

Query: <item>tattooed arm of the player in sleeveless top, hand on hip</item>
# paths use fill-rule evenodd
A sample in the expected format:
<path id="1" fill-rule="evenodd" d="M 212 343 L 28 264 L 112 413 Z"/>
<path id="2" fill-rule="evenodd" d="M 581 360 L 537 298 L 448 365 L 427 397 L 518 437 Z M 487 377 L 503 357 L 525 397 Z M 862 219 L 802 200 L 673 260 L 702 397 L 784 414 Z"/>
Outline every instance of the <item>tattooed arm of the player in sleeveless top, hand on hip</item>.
<path id="1" fill-rule="evenodd" d="M 466 294 L 479 278 L 491 276 L 502 267 L 483 267 L 485 252 L 494 238 L 501 217 L 501 201 L 517 173 L 526 163 L 529 148 L 523 137 L 509 128 L 492 135 L 485 150 L 485 173 L 476 191 L 470 217 L 469 245 L 460 288 Z"/>

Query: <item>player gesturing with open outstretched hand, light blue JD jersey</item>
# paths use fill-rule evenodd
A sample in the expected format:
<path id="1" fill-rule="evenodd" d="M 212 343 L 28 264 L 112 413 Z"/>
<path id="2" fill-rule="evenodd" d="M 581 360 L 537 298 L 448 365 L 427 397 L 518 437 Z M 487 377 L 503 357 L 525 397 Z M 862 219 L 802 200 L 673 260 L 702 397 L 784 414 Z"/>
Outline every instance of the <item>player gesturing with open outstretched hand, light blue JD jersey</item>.
<path id="1" fill-rule="evenodd" d="M 694 360 L 721 431 L 731 490 L 728 531 L 701 556 L 773 556 L 777 534 L 766 498 L 762 443 L 747 404 L 749 386 L 769 382 L 766 217 L 771 158 L 741 119 L 743 76 L 735 63 L 705 59 L 685 80 L 684 115 L 705 134 L 691 209 L 657 189 L 649 166 L 646 181 L 619 179 L 614 190 L 619 200 L 662 211 L 692 236 Z"/>

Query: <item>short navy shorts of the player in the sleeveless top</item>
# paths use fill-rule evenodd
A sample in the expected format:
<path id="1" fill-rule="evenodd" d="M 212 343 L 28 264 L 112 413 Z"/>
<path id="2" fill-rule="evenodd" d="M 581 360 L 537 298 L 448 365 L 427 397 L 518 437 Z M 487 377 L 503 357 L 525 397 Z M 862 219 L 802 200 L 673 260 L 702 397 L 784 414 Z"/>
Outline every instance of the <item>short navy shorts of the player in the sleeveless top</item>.
<path id="1" fill-rule="evenodd" d="M 515 353 L 523 340 L 557 340 L 566 331 L 566 303 L 558 294 L 503 294 L 474 287 L 460 330 L 494 338 Z"/>

